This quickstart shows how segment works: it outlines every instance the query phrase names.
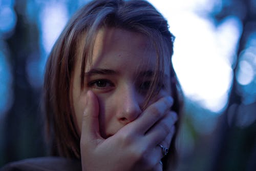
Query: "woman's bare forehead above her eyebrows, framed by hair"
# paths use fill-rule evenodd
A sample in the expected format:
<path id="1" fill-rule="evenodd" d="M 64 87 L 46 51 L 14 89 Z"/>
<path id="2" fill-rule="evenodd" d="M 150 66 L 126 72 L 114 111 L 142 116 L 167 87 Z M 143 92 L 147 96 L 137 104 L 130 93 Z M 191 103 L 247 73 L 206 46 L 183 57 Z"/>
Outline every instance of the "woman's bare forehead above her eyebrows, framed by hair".
<path id="1" fill-rule="evenodd" d="M 81 36 L 83 37 L 82 40 L 85 36 L 86 34 Z M 84 41 L 80 41 L 78 44 L 80 54 L 83 47 Z M 156 65 L 156 47 L 142 33 L 119 28 L 101 28 L 96 34 L 92 48 L 93 54 L 86 62 L 86 71 L 95 67 L 110 67 L 111 69 L 122 70 L 127 65 L 137 69 L 154 70 Z M 165 56 L 164 61 L 164 64 L 169 63 L 167 56 Z M 167 66 L 164 67 L 165 73 L 168 73 Z"/>

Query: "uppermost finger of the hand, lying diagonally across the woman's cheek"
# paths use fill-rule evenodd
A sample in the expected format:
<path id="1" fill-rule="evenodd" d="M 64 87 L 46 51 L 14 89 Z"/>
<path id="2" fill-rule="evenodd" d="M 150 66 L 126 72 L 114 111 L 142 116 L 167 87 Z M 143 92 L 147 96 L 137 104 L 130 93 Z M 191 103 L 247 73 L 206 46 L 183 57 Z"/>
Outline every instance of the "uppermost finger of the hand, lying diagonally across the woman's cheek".
<path id="1" fill-rule="evenodd" d="M 164 116 L 165 111 L 169 110 L 172 105 L 173 99 L 171 97 L 159 99 L 156 103 L 147 107 L 139 118 L 131 123 L 131 126 L 137 132 L 145 134 L 148 129 Z"/>

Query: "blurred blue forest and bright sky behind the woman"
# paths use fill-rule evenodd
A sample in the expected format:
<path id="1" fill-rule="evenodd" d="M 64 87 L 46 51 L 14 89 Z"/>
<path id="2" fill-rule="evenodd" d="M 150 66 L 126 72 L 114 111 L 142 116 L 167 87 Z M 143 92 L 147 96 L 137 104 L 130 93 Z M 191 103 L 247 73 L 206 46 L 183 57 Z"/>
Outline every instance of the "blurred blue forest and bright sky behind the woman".
<path id="1" fill-rule="evenodd" d="M 0 167 L 45 156 L 47 56 L 85 0 L 0 0 Z M 256 168 L 256 0 L 150 1 L 176 36 L 185 96 L 177 170 Z"/>

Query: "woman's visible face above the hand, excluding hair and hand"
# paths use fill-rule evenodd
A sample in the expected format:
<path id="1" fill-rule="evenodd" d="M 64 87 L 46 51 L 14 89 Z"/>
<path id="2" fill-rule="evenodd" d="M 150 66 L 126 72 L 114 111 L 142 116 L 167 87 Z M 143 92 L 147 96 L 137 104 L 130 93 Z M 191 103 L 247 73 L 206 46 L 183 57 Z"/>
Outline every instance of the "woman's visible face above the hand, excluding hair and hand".
<path id="1" fill-rule="evenodd" d="M 96 36 L 92 62 L 86 64 L 84 88 L 81 89 L 81 51 L 84 42 L 80 41 L 72 81 L 73 106 L 79 129 L 88 90 L 92 90 L 98 98 L 103 138 L 114 135 L 141 114 L 156 61 L 155 49 L 149 42 L 140 33 L 117 28 L 101 29 Z M 161 87 L 160 93 L 150 103 L 170 94 L 169 61 L 166 59 L 164 63 L 163 84 L 158 85 Z"/>

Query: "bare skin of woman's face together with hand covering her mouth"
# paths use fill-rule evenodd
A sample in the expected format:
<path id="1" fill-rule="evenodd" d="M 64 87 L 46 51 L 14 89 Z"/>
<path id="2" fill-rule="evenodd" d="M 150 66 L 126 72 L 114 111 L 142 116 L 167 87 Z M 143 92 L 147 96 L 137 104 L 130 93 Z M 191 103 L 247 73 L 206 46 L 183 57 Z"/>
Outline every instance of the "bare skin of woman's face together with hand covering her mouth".
<path id="1" fill-rule="evenodd" d="M 159 94 L 142 111 L 152 81 L 148 73 L 154 70 L 156 60 L 148 42 L 140 33 L 101 29 L 81 89 L 81 39 L 72 98 L 81 133 L 83 170 L 162 170 L 163 155 L 157 144 L 169 146 L 177 115 L 170 111 L 168 60 Z"/>

